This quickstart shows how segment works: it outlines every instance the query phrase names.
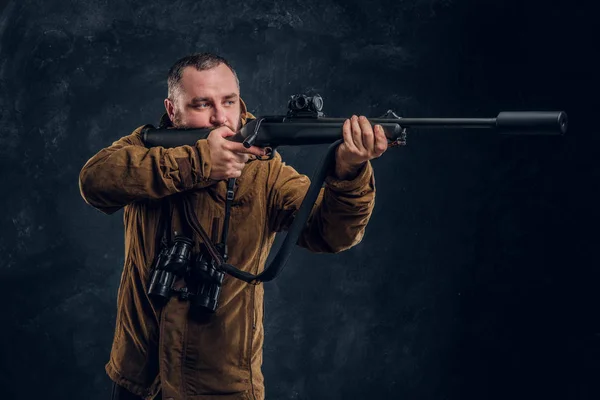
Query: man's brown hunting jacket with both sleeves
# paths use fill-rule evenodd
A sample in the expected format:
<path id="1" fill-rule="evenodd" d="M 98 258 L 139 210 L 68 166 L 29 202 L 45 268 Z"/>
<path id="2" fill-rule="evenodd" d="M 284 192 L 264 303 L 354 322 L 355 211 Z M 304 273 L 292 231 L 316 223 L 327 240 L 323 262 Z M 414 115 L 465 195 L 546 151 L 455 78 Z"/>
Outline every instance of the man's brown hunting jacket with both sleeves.
<path id="1" fill-rule="evenodd" d="M 243 122 L 251 114 L 243 108 Z M 106 372 L 117 384 L 147 399 L 162 389 L 168 399 L 263 399 L 263 286 L 226 275 L 219 308 L 190 318 L 189 302 L 172 297 L 160 306 L 147 294 L 161 203 L 185 192 L 211 236 L 220 229 L 226 181 L 209 179 L 206 140 L 195 146 L 146 148 L 141 128 L 93 156 L 80 173 L 85 201 L 112 214 L 124 207 L 125 263 Z M 227 245 L 228 262 L 258 274 L 275 233 L 286 230 L 309 179 L 282 162 L 249 161 L 236 181 Z M 335 253 L 362 239 L 375 200 L 370 163 L 352 181 L 329 176 L 299 244 Z M 173 230 L 180 229 L 173 209 Z M 220 233 L 219 233 L 220 237 Z M 197 244 L 196 244 L 197 245 Z"/>

